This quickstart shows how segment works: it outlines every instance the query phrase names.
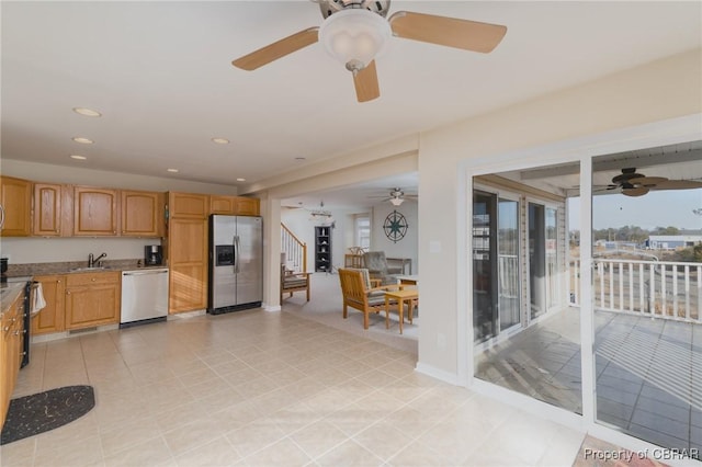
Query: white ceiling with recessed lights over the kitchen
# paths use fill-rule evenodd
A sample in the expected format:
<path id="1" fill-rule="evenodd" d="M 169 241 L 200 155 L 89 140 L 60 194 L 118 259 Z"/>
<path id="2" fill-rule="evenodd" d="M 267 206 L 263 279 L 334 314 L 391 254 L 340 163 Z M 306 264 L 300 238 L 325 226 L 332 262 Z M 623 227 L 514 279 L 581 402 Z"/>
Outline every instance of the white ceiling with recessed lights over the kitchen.
<path id="1" fill-rule="evenodd" d="M 702 41 L 700 2 L 393 1 L 390 13 L 484 21 L 508 32 L 487 55 L 393 38 L 377 60 L 382 96 L 359 104 L 351 75 L 319 44 L 252 72 L 230 65 L 319 25 L 310 1 L 3 1 L 1 8 L 3 158 L 233 185 Z M 103 116 L 77 115 L 76 106 Z M 94 144 L 76 144 L 73 136 Z M 215 145 L 213 137 L 231 143 Z M 416 190 L 405 182 L 376 181 L 364 190 Z"/>

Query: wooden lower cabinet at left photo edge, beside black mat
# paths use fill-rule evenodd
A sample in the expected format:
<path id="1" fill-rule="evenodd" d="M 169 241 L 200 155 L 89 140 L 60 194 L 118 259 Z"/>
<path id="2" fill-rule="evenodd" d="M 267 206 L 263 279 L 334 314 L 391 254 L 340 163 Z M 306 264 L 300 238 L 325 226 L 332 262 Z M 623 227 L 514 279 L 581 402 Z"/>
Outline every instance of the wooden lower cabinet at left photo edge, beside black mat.
<path id="1" fill-rule="evenodd" d="M 22 314 L 24 294 L 2 315 L 0 321 L 0 426 L 4 423 L 22 362 Z"/>

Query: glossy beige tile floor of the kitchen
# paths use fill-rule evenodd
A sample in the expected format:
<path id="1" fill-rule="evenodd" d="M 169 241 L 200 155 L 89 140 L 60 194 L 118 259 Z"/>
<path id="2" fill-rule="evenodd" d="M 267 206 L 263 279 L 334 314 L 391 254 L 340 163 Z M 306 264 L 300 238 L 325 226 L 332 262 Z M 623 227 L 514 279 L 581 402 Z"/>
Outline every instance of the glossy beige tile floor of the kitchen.
<path id="1" fill-rule="evenodd" d="M 90 384 L 83 418 L 12 466 L 570 466 L 584 434 L 415 372 L 290 312 L 173 319 L 33 345 L 15 397 Z"/>

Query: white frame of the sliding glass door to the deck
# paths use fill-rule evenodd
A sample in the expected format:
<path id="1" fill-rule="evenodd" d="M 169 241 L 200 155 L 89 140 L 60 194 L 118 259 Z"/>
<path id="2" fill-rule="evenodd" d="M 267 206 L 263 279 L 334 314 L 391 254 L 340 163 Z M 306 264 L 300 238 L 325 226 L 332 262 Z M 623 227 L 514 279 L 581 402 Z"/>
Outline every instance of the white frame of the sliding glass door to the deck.
<path id="1" fill-rule="evenodd" d="M 608 153 L 699 140 L 702 138 L 702 132 L 700 132 L 699 126 L 700 118 L 702 118 L 702 114 L 698 113 L 653 124 L 642 124 L 544 146 L 486 155 L 486 157 L 474 157 L 461 161 L 458 163 L 460 196 L 457 215 L 460 216 L 460 229 L 464 232 L 462 238 L 465 239 L 465 244 L 458 242 L 457 252 L 460 258 L 465 259 L 465 265 L 460 264 L 457 267 L 458 284 L 472 284 L 473 281 L 469 261 L 472 239 L 467 234 L 469 232 L 473 214 L 474 176 L 578 162 L 580 166 L 579 217 L 581 255 L 579 284 L 582 297 L 592 296 L 592 159 Z M 564 213 L 564 215 L 567 218 L 569 213 Z M 566 232 L 565 235 L 568 234 Z M 526 411 L 540 413 L 550 420 L 577 430 L 587 431 L 593 436 L 626 446 L 630 449 L 658 447 L 596 422 L 595 355 L 591 351 L 595 342 L 595 319 L 591 300 L 581 300 L 580 305 L 580 343 L 581 349 L 589 350 L 581 352 L 582 414 L 580 415 L 475 377 L 474 357 L 478 350 L 474 349 L 472 340 L 472 298 L 469 287 L 458 293 L 458 323 L 468 326 L 458 326 L 457 383 L 462 383 L 472 390 L 487 397 L 499 399 Z M 465 318 L 462 316 L 465 316 Z"/>

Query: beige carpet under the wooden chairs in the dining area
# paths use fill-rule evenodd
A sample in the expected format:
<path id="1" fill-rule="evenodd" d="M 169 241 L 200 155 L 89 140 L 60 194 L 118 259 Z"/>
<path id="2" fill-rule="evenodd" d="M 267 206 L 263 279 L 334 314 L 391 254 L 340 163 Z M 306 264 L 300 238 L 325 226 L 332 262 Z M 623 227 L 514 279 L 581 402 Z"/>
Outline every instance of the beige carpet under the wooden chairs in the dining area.
<path id="1" fill-rule="evenodd" d="M 363 314 L 360 311 L 349 309 L 349 317 L 347 319 L 342 317 L 341 286 L 338 274 L 314 273 L 310 277 L 310 300 L 305 301 L 304 292 L 296 292 L 290 298 L 286 294 L 282 304 L 284 312 L 291 312 L 301 318 L 362 335 L 417 355 L 419 317 L 415 317 L 412 324 L 405 318 L 401 335 L 399 319 L 394 312 L 390 312 L 389 329 L 385 329 L 385 314 L 380 314 L 371 315 L 369 329 L 364 330 Z"/>

